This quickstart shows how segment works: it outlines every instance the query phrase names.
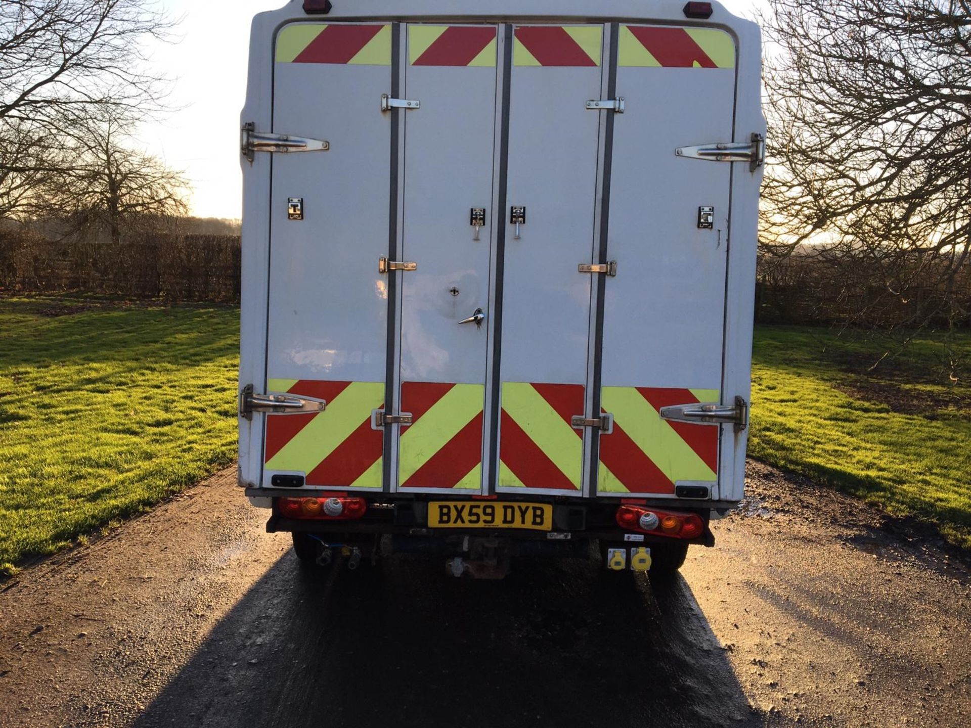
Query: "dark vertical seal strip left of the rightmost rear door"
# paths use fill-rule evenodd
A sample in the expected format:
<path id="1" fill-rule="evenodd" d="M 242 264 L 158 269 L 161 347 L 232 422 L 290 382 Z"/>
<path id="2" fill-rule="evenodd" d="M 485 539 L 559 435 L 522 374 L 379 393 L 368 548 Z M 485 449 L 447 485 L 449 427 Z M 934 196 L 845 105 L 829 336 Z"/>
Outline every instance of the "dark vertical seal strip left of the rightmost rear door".
<path id="1" fill-rule="evenodd" d="M 618 62 L 618 41 L 620 35 L 619 23 L 610 24 L 610 61 L 607 66 L 607 97 L 617 96 L 617 62 Z M 616 114 L 608 114 L 604 121 L 607 129 L 604 134 L 604 182 L 603 200 L 600 210 L 600 257 L 599 260 L 607 260 L 607 236 L 610 232 L 610 186 L 611 175 L 614 162 L 614 122 Z M 593 342 L 593 416 L 600 414 L 600 389 L 603 375 L 603 344 L 604 344 L 604 300 L 606 297 L 607 286 L 604 281 L 599 281 L 597 285 L 596 301 L 596 328 Z M 593 442 L 590 447 L 590 495 L 597 494 L 597 477 L 600 472 L 600 435 L 591 431 L 590 436 Z"/>

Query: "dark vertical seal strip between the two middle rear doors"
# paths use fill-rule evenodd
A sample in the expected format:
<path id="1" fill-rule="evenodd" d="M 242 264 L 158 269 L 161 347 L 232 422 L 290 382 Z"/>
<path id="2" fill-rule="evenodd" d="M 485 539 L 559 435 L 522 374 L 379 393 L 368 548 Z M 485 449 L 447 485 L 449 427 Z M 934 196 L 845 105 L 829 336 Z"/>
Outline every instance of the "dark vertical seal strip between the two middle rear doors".
<path id="1" fill-rule="evenodd" d="M 492 396 L 489 407 L 491 408 L 491 420 L 489 422 L 489 452 L 488 457 L 488 480 L 485 481 L 485 493 L 495 492 L 496 478 L 499 466 L 499 389 L 502 385 L 500 381 L 499 363 L 502 359 L 502 280 L 505 271 L 506 256 L 506 217 L 503 212 L 506 209 L 506 193 L 509 188 L 509 119 L 511 109 L 509 108 L 512 97 L 513 87 L 513 26 L 506 24 L 503 26 L 503 37 L 505 48 L 503 49 L 504 64 L 502 71 L 502 129 L 499 132 L 499 199 L 496 202 L 495 211 L 492 219 L 500 224 L 496 225 L 495 233 L 495 311 L 492 315 L 493 330 L 492 336 Z"/>

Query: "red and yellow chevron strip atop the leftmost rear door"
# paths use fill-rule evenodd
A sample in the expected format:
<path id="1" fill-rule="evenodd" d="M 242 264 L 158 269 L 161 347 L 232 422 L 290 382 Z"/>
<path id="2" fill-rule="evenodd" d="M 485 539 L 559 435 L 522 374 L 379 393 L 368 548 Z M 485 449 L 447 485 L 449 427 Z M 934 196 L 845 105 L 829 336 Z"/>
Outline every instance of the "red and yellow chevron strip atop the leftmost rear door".
<path id="1" fill-rule="evenodd" d="M 390 25 L 293 23 L 277 35 L 278 63 L 391 65 Z"/>

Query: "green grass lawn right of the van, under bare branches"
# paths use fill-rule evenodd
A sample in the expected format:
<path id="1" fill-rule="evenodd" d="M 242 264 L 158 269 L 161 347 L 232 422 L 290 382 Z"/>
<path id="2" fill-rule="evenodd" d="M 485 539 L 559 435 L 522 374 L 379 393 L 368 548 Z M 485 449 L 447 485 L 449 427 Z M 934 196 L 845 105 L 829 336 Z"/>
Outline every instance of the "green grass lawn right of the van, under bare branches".
<path id="1" fill-rule="evenodd" d="M 956 348 L 967 361 L 971 335 Z M 827 329 L 758 327 L 749 452 L 971 547 L 971 386 L 951 381 L 930 335 L 868 371 L 886 350 Z"/>

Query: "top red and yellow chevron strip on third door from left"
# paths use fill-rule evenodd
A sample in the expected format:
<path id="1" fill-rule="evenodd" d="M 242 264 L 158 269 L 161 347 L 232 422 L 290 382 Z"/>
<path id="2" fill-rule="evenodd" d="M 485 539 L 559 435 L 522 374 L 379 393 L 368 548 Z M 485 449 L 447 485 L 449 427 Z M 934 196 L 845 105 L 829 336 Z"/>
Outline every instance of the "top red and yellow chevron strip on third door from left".
<path id="1" fill-rule="evenodd" d="M 599 25 L 522 25 L 513 41 L 514 66 L 599 66 Z"/>

